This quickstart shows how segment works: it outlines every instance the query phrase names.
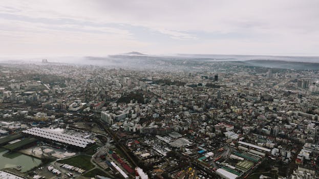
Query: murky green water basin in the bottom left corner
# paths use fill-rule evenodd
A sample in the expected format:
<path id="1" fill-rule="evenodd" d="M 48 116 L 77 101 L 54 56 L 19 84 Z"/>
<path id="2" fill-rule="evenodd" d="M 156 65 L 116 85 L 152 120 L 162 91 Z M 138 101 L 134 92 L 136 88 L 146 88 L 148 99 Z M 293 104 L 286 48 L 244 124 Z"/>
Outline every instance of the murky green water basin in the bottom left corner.
<path id="1" fill-rule="evenodd" d="M 21 172 L 26 172 L 40 164 L 41 160 L 32 156 L 0 148 L 0 169 L 21 166 Z"/>

